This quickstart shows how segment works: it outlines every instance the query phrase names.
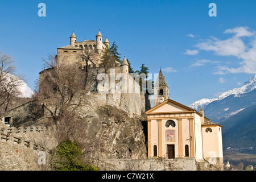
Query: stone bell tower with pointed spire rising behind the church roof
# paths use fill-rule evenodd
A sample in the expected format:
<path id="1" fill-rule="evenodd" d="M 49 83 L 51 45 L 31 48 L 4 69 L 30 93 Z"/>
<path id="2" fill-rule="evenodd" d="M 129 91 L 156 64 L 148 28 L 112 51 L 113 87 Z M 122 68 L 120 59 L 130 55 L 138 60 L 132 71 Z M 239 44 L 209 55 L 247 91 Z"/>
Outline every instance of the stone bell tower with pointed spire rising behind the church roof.
<path id="1" fill-rule="evenodd" d="M 154 106 L 159 105 L 163 101 L 167 100 L 169 97 L 169 88 L 166 83 L 166 78 L 163 76 L 163 72 L 160 69 L 158 78 L 156 78 L 154 86 Z"/>

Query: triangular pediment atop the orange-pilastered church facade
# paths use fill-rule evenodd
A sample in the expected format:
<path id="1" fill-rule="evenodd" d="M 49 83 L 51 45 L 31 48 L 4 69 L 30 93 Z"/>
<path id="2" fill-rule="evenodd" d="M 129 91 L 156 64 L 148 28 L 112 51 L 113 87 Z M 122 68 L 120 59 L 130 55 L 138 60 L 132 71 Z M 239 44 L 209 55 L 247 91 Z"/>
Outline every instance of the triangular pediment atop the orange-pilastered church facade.
<path id="1" fill-rule="evenodd" d="M 179 102 L 173 100 L 166 100 L 161 104 L 152 107 L 150 110 L 146 111 L 146 114 L 154 114 L 154 113 L 171 113 L 171 112 L 182 112 L 182 111 L 195 111 L 190 107 L 187 107 Z"/>

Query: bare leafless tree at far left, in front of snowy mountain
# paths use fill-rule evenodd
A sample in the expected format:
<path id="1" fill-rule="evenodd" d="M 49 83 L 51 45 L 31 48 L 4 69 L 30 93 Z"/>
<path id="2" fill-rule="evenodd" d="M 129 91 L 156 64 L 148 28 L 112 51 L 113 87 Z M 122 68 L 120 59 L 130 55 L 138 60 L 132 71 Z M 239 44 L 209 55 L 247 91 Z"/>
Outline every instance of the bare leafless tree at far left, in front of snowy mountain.
<path id="1" fill-rule="evenodd" d="M 7 111 L 15 97 L 20 96 L 19 86 L 23 84 L 21 76 L 16 76 L 14 60 L 10 55 L 0 52 L 0 107 Z"/>

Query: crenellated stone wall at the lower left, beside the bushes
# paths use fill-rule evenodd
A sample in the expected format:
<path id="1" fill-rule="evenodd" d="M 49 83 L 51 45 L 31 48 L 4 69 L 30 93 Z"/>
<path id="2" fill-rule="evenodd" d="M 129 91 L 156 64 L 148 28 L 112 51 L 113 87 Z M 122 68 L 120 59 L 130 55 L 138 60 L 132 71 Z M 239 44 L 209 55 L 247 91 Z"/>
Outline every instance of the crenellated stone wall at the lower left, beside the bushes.
<path id="1" fill-rule="evenodd" d="M 42 161 L 43 158 L 48 160 L 49 149 L 56 146 L 56 141 L 50 137 L 51 128 L 0 127 L 0 171 L 48 169 L 47 163 Z"/>

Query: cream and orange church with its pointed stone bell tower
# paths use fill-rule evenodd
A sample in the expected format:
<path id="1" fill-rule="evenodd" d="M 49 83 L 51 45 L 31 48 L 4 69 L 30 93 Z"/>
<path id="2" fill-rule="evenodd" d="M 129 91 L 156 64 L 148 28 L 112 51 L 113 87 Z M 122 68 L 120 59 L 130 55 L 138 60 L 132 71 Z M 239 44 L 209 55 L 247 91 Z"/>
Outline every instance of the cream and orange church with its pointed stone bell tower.
<path id="1" fill-rule="evenodd" d="M 195 158 L 199 165 L 223 170 L 221 125 L 169 97 L 160 70 L 154 107 L 146 111 L 149 158 Z"/>

